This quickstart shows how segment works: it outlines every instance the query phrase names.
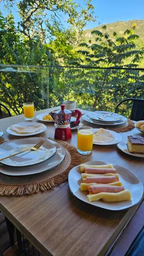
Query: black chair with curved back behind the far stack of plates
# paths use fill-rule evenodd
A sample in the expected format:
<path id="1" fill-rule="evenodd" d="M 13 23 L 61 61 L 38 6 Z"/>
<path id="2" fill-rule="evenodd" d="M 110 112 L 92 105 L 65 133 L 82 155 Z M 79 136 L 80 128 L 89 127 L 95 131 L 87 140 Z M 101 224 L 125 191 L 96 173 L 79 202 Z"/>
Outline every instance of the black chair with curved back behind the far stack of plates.
<path id="1" fill-rule="evenodd" d="M 133 121 L 144 120 L 144 99 L 127 98 L 119 102 L 115 108 L 115 113 L 118 110 L 119 105 L 125 101 L 133 101 L 130 119 Z"/>

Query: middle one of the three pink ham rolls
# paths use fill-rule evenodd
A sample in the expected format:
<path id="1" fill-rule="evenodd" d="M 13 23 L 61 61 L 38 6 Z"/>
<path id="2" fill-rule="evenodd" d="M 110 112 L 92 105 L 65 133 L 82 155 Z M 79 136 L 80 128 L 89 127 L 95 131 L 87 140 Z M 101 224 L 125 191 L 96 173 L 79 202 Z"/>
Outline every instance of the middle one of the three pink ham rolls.
<path id="1" fill-rule="evenodd" d="M 94 177 L 93 176 L 93 177 L 86 177 L 85 179 L 83 179 L 84 183 L 97 182 L 97 183 L 106 184 L 106 183 L 111 183 L 111 182 L 115 182 L 115 181 L 119 181 L 116 176 L 105 176 L 105 177 Z"/>

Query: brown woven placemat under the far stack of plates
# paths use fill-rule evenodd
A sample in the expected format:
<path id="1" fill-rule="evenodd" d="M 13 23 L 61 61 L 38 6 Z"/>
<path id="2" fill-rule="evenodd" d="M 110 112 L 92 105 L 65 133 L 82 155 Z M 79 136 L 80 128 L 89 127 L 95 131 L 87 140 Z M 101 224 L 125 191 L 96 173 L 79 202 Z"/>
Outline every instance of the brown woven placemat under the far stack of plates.
<path id="1" fill-rule="evenodd" d="M 89 122 L 84 121 L 84 120 L 81 120 L 81 123 L 83 125 L 90 126 L 92 128 L 102 127 L 102 125 L 89 123 Z M 109 125 L 106 126 L 105 125 L 104 128 L 108 129 L 108 130 L 111 130 L 111 131 L 114 131 L 114 132 L 117 132 L 117 133 L 125 133 L 125 132 L 128 132 L 128 131 L 134 129 L 134 122 L 132 120 L 128 119 L 128 121 L 126 123 L 124 123 L 123 126 L 122 126 L 122 124 L 119 124 L 117 126 L 109 126 Z"/>

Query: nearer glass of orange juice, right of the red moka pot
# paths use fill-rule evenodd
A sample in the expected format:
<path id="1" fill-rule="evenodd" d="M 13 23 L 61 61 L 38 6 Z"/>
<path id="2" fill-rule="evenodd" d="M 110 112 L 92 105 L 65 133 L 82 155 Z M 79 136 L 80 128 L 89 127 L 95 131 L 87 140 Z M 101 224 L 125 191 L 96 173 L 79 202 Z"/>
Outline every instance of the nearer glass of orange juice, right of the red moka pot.
<path id="1" fill-rule="evenodd" d="M 82 155 L 88 155 L 92 151 L 93 129 L 88 126 L 78 128 L 78 152 Z"/>

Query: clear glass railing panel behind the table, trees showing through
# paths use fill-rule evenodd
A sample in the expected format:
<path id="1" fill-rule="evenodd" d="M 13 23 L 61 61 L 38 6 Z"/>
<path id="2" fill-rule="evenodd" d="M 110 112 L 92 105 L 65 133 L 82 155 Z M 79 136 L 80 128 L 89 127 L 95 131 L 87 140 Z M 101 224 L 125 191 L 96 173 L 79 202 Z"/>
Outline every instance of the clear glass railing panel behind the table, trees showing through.
<path id="1" fill-rule="evenodd" d="M 144 98 L 144 69 L 0 65 L 0 77 L 0 102 L 12 115 L 23 102 L 42 110 L 75 100 L 85 110 L 114 111 L 123 99 Z M 130 108 L 123 104 L 119 113 L 129 116 Z"/>

